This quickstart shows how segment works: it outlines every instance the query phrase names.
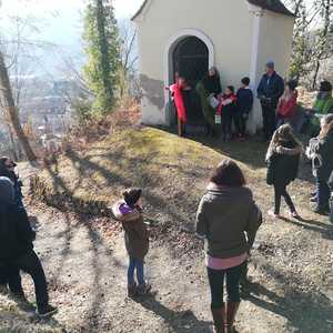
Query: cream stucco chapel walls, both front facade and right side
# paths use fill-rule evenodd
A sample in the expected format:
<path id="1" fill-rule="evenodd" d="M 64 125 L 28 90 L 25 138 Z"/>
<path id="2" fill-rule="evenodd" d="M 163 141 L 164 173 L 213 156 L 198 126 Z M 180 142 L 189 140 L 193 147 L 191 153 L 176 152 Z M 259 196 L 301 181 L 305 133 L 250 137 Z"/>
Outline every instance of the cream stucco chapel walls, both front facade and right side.
<path id="1" fill-rule="evenodd" d="M 143 92 L 142 121 L 147 124 L 167 123 L 169 94 L 164 85 L 172 82 L 165 79 L 165 49 L 180 31 L 196 29 L 211 40 L 214 64 L 221 72 L 223 87 L 233 84 L 238 88 L 241 78 L 250 75 L 255 90 L 268 59 L 275 60 L 282 74 L 287 69 L 293 19 L 265 11 L 260 20 L 255 19 L 246 0 L 210 0 L 209 3 L 203 0 L 151 0 L 135 23 Z M 260 28 L 258 38 L 254 36 L 256 28 Z M 254 54 L 255 41 L 258 54 Z M 261 110 L 256 103 L 250 124 L 252 132 L 260 124 Z"/>

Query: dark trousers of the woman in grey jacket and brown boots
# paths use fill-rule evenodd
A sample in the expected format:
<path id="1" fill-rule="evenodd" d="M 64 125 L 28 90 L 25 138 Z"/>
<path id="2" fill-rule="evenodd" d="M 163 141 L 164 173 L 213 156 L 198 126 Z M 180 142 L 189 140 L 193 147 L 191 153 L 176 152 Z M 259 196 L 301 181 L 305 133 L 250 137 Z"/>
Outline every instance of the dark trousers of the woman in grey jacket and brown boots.
<path id="1" fill-rule="evenodd" d="M 240 302 L 240 279 L 245 263 L 229 270 L 212 270 L 208 268 L 208 276 L 211 289 L 211 306 L 212 309 L 221 309 L 223 306 L 223 289 L 224 278 L 226 278 L 228 300 L 230 302 Z"/>

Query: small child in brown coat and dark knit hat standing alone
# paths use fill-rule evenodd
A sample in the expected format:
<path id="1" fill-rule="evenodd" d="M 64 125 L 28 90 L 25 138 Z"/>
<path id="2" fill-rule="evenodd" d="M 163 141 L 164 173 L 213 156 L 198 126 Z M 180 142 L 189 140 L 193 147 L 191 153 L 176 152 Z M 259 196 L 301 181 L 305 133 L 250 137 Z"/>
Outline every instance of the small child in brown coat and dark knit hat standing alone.
<path id="1" fill-rule="evenodd" d="M 144 258 L 149 251 L 149 231 L 143 222 L 140 189 L 129 189 L 112 211 L 124 229 L 125 248 L 129 254 L 129 297 L 148 294 L 151 285 L 144 280 Z M 137 272 L 137 281 L 134 273 Z"/>

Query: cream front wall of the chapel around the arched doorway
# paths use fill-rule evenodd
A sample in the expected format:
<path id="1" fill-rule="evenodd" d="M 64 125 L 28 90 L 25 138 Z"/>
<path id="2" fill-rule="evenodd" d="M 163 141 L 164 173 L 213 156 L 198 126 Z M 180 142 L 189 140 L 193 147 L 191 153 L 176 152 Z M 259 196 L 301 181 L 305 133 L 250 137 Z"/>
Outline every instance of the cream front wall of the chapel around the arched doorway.
<path id="1" fill-rule="evenodd" d="M 202 0 L 153 0 L 135 22 L 139 27 L 144 123 L 165 123 L 164 107 L 160 109 L 162 103 L 152 102 L 149 94 L 152 93 L 155 101 L 163 99 L 164 105 L 168 102 L 168 94 L 161 90 L 165 84 L 165 46 L 181 30 L 196 29 L 211 39 L 223 85 L 238 87 L 240 79 L 249 75 L 252 16 L 246 1 L 210 0 L 208 4 Z M 148 92 L 150 87 L 153 89 Z"/>

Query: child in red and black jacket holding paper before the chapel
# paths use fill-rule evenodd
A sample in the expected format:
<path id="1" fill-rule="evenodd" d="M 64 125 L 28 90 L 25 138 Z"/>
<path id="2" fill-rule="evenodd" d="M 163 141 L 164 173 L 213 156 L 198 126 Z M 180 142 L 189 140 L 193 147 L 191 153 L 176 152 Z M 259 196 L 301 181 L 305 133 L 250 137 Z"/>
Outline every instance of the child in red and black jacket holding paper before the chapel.
<path id="1" fill-rule="evenodd" d="M 232 135 L 232 119 L 236 110 L 236 97 L 234 87 L 229 85 L 225 93 L 221 97 L 218 114 L 221 115 L 222 139 L 224 142 L 230 141 Z"/>

